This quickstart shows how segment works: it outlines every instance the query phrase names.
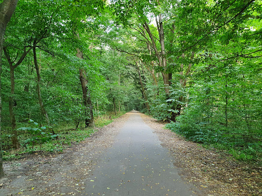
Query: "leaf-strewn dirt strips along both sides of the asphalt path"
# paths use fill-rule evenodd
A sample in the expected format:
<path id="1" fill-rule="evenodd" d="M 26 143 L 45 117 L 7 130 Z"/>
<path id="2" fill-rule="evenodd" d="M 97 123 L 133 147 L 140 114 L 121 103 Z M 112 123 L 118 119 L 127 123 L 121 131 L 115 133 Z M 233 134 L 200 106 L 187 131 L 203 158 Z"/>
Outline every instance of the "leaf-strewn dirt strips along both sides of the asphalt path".
<path id="1" fill-rule="evenodd" d="M 84 195 L 81 192 L 85 182 L 92 181 L 98 156 L 114 144 L 129 115 L 115 119 L 63 153 L 36 153 L 5 162 L 6 176 L 0 180 L 0 195 Z M 262 194 L 261 167 L 236 161 L 224 152 L 207 150 L 164 129 L 157 120 L 140 116 L 158 135 L 161 145 L 169 149 L 184 180 L 197 185 L 205 195 Z"/>

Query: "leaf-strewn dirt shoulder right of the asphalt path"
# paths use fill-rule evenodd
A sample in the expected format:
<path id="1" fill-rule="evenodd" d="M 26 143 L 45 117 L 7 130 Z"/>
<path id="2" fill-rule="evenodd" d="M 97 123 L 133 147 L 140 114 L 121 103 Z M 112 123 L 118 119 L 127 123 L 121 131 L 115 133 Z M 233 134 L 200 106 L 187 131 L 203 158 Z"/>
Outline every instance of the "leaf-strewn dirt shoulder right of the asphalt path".
<path id="1" fill-rule="evenodd" d="M 207 195 L 262 195 L 262 168 L 234 160 L 231 155 L 207 150 L 200 144 L 164 129 L 164 124 L 141 114 L 146 124 L 155 130 L 162 145 L 175 158 L 187 180 L 195 182 Z"/>

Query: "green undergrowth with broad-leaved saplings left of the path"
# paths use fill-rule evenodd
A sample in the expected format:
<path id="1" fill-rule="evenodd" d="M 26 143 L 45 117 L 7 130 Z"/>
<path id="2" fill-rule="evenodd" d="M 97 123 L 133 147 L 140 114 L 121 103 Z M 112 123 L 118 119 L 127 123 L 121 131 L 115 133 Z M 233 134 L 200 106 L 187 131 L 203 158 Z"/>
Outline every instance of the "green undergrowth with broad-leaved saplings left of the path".
<path id="1" fill-rule="evenodd" d="M 95 117 L 95 125 L 101 128 L 113 122 L 113 119 L 123 115 L 124 112 L 117 115 L 100 115 Z M 79 127 L 64 124 L 54 128 L 55 134 L 51 134 L 47 127 L 39 126 L 37 122 L 31 120 L 31 124 L 24 125 L 18 129 L 20 149 L 11 149 L 11 135 L 2 134 L 3 141 L 3 159 L 19 159 L 26 154 L 47 154 L 61 153 L 74 143 L 81 142 L 90 137 L 97 129 Z M 10 148 L 10 149 L 9 149 Z"/>

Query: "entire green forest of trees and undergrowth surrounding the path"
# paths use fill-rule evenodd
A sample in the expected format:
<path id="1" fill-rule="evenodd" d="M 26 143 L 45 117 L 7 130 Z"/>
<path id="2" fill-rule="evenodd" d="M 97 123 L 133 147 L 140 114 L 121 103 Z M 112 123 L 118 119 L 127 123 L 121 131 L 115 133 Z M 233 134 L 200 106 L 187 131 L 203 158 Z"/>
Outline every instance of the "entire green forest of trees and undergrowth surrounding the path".
<path id="1" fill-rule="evenodd" d="M 0 3 L 0 168 L 130 110 L 261 164 L 261 1 Z"/>

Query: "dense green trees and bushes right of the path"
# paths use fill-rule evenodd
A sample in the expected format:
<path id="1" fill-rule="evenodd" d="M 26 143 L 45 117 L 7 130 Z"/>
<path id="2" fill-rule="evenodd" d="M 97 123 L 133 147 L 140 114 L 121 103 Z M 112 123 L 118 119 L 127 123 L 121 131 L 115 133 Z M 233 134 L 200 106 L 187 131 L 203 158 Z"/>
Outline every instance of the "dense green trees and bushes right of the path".
<path id="1" fill-rule="evenodd" d="M 114 7 L 129 36 L 118 31 L 125 41 L 117 47 L 140 59 L 151 114 L 190 140 L 261 160 L 261 2 L 116 1 Z"/>

